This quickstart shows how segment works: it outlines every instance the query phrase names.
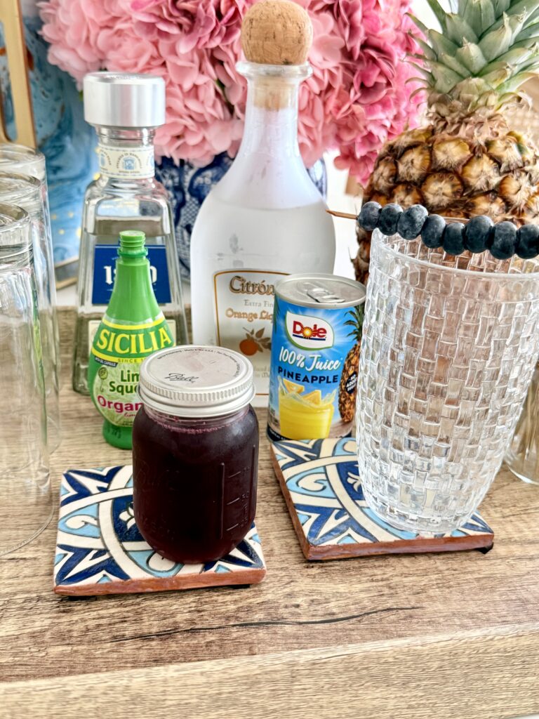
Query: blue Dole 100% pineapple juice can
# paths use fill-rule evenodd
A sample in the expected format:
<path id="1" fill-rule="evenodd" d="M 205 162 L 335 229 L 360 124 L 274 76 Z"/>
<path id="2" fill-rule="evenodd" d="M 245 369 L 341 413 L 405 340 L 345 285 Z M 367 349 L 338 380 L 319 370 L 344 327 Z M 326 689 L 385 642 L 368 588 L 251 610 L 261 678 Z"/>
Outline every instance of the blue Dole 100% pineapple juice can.
<path id="1" fill-rule="evenodd" d="M 270 439 L 351 434 L 365 288 L 335 275 L 289 275 L 275 285 Z"/>

